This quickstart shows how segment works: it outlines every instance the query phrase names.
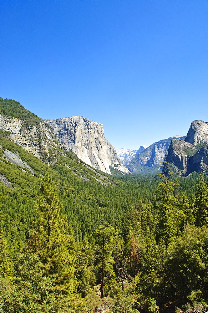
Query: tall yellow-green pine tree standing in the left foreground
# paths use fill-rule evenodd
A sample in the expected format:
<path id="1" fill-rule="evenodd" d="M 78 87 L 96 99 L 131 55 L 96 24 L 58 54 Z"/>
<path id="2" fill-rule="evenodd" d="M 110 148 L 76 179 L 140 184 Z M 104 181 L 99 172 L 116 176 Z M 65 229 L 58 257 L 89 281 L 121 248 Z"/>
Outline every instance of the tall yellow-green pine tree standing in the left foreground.
<path id="1" fill-rule="evenodd" d="M 46 277 L 55 277 L 54 291 L 66 294 L 73 305 L 80 305 L 75 294 L 75 257 L 69 254 L 70 236 L 66 216 L 61 213 L 56 188 L 48 174 L 42 179 L 37 207 L 37 221 L 33 223 L 28 243 L 39 257 Z"/>

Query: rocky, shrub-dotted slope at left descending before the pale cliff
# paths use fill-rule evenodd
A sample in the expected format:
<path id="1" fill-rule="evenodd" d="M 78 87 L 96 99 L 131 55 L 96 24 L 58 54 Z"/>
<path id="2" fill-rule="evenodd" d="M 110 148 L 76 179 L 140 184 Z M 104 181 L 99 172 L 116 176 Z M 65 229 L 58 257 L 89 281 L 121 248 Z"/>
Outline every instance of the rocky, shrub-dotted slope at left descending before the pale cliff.
<path id="1" fill-rule="evenodd" d="M 40 160 L 47 166 L 44 167 Z M 46 171 L 50 171 L 50 167 L 62 167 L 63 171 L 83 181 L 115 185 L 107 175 L 84 164 L 73 151 L 67 151 L 38 117 L 35 123 L 29 124 L 28 120 L 0 114 L 0 163 L 0 181 L 11 188 L 11 183 L 5 177 L 5 164 L 16 165 L 22 172 L 35 176 L 45 172 L 46 168 Z"/>

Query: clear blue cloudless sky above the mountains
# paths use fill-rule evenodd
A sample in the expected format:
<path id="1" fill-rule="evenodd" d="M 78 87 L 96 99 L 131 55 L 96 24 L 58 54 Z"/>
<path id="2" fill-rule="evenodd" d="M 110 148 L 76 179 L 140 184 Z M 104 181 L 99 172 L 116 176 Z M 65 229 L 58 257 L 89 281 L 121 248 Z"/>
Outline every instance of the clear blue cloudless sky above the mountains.
<path id="1" fill-rule="evenodd" d="M 0 96 L 138 149 L 208 121 L 207 0 L 1 0 Z"/>

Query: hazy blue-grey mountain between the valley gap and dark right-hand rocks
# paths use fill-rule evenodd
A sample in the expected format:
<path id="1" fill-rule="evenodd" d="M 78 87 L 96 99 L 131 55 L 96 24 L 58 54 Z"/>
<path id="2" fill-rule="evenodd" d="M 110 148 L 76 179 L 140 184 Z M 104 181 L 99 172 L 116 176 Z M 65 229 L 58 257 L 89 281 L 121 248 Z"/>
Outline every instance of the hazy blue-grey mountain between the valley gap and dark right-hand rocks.
<path id="1" fill-rule="evenodd" d="M 164 160 L 165 151 L 169 148 L 173 138 L 184 140 L 185 136 L 176 135 L 167 139 L 154 142 L 151 146 L 134 156 L 128 165 L 130 172 L 157 171 L 158 164 Z"/>

